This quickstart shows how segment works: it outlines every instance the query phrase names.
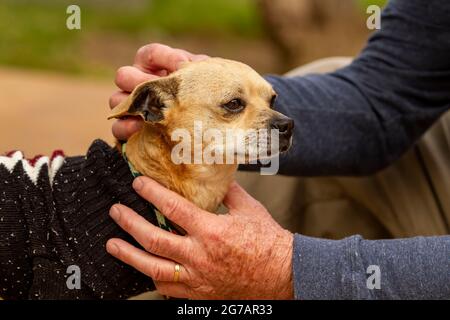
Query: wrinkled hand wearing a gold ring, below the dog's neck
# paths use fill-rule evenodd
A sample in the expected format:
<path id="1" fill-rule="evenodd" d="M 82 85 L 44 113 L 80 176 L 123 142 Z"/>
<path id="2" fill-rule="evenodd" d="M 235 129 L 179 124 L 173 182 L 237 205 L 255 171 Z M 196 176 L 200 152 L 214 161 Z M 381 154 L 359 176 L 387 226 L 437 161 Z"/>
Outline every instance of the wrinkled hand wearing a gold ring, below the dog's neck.
<path id="1" fill-rule="evenodd" d="M 293 298 L 293 235 L 237 183 L 225 197 L 229 213 L 224 215 L 201 210 L 150 178 L 137 178 L 133 187 L 187 231 L 186 236 L 175 235 L 123 205 L 111 208 L 111 217 L 146 251 L 111 239 L 108 252 L 151 277 L 161 294 L 190 299 Z M 176 263 L 181 265 L 178 282 Z"/>

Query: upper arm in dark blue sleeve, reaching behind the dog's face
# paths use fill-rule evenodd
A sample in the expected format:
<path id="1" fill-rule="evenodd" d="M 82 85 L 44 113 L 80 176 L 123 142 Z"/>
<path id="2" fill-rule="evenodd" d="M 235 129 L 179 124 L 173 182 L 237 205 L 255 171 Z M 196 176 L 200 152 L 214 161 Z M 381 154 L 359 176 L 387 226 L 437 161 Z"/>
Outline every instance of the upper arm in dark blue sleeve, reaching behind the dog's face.
<path id="1" fill-rule="evenodd" d="M 402 155 L 450 107 L 450 2 L 392 0 L 348 67 L 268 76 L 295 120 L 290 175 L 365 175 Z"/>

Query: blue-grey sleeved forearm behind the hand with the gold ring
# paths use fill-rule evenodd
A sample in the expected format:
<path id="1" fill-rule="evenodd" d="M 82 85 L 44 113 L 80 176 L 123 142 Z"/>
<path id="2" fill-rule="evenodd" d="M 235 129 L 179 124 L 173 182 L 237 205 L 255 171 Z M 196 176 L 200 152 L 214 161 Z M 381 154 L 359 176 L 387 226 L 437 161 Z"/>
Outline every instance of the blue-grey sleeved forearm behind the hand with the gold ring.
<path id="1" fill-rule="evenodd" d="M 294 239 L 296 299 L 448 299 L 449 270 L 449 236 Z"/>

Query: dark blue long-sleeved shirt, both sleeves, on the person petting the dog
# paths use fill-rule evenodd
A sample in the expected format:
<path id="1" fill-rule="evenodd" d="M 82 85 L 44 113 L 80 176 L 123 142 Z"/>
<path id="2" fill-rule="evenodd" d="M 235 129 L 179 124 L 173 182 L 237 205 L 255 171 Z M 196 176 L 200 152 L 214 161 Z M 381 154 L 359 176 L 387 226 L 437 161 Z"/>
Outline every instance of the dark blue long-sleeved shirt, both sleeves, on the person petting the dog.
<path id="1" fill-rule="evenodd" d="M 275 108 L 296 122 L 280 173 L 374 173 L 450 107 L 450 1 L 392 0 L 381 30 L 350 66 L 266 78 L 279 94 Z M 368 285 L 378 271 L 382 290 Z M 293 275 L 297 299 L 450 299 L 450 236 L 369 241 L 295 235 Z"/>

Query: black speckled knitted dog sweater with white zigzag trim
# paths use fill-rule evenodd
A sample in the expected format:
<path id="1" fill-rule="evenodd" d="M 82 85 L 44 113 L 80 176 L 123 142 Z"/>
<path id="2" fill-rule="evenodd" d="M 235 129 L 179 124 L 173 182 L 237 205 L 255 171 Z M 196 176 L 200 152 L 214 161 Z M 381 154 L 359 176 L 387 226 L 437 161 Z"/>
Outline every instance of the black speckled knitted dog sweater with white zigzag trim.
<path id="1" fill-rule="evenodd" d="M 110 256 L 106 241 L 136 242 L 109 217 L 123 203 L 154 221 L 131 188 L 121 154 L 95 141 L 85 157 L 0 157 L 0 296 L 5 299 L 112 299 L 154 290 L 149 277 Z M 81 288 L 66 284 L 79 267 Z"/>

